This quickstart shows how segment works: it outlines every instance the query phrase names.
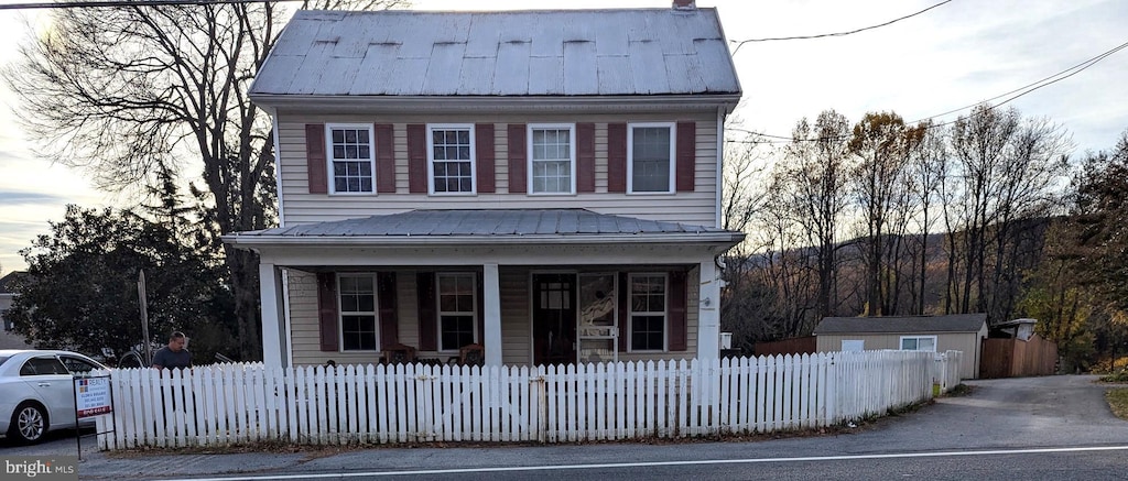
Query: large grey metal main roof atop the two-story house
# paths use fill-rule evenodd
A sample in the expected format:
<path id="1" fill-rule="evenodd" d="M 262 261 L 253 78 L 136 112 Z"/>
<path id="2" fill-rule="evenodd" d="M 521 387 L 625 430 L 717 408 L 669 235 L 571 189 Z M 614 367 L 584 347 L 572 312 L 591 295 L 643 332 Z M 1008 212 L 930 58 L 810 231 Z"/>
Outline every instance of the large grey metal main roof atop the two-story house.
<path id="1" fill-rule="evenodd" d="M 740 93 L 715 9 L 299 10 L 252 96 Z"/>

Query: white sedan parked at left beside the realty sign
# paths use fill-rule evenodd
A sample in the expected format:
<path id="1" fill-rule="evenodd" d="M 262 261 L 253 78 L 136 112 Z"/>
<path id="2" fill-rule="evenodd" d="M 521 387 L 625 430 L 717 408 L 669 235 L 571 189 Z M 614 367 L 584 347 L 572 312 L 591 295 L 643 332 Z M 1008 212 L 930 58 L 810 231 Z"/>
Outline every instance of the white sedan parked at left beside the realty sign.
<path id="1" fill-rule="evenodd" d="M 74 427 L 74 375 L 107 369 L 65 350 L 0 350 L 0 434 L 37 443 L 47 431 Z"/>

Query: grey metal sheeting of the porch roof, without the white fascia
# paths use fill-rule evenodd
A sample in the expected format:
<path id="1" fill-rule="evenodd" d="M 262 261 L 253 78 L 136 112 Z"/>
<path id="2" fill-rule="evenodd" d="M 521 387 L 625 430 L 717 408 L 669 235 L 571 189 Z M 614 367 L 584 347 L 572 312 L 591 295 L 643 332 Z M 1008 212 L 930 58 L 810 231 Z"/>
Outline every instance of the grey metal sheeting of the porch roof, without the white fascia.
<path id="1" fill-rule="evenodd" d="M 240 237 L 525 237 L 742 233 L 673 222 L 561 210 L 418 210 L 344 221 L 240 232 Z"/>

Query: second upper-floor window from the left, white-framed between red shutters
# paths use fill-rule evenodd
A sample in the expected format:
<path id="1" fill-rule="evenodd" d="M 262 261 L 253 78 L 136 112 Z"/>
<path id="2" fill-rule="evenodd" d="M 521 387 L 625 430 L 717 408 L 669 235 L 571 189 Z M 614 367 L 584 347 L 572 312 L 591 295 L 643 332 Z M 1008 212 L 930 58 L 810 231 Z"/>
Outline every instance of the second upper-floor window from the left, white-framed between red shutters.
<path id="1" fill-rule="evenodd" d="M 430 125 L 431 194 L 474 194 L 474 125 Z"/>

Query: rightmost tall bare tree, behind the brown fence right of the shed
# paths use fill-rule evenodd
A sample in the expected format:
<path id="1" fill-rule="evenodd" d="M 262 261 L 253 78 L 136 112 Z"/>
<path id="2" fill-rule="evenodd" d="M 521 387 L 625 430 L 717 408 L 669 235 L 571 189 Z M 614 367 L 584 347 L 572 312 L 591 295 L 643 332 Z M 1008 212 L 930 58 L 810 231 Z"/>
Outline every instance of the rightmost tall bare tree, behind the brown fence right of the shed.
<path id="1" fill-rule="evenodd" d="M 1023 122 L 1017 110 L 989 105 L 976 107 L 952 126 L 953 175 L 945 186 L 945 222 L 952 237 L 950 259 L 954 274 L 955 252 L 962 279 L 951 276 L 950 294 L 957 294 L 958 312 L 1006 315 L 1013 297 L 1002 283 L 1016 266 L 1013 255 L 1022 249 L 1020 223 L 1043 216 L 1052 205 L 1051 193 L 1066 172 L 1069 148 L 1060 127 L 1045 121 Z M 960 231 L 957 242 L 954 229 Z M 973 294 L 973 295 L 972 295 Z"/>

